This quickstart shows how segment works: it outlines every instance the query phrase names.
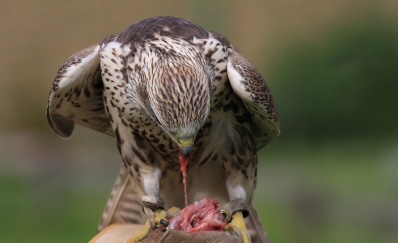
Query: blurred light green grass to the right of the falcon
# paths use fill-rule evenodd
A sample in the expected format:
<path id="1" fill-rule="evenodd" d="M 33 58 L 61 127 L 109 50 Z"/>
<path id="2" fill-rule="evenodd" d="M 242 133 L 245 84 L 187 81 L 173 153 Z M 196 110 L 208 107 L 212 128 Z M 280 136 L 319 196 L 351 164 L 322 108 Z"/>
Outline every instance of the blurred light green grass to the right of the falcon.
<path id="1" fill-rule="evenodd" d="M 256 206 L 272 241 L 397 242 L 395 138 L 270 147 Z"/>

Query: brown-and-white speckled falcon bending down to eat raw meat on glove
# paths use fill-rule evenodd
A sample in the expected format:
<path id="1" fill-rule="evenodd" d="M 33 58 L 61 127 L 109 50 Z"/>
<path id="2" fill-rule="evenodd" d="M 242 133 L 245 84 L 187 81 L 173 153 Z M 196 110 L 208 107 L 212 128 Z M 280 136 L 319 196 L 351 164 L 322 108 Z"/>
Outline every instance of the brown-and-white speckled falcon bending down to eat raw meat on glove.
<path id="1" fill-rule="evenodd" d="M 252 199 L 257 151 L 280 134 L 277 108 L 260 73 L 222 35 L 168 16 L 111 34 L 61 66 L 47 120 L 64 139 L 77 123 L 116 140 L 124 165 L 99 230 L 142 223 L 140 199 L 184 207 L 181 153 L 189 203 L 243 199 L 252 241 L 268 241 Z"/>

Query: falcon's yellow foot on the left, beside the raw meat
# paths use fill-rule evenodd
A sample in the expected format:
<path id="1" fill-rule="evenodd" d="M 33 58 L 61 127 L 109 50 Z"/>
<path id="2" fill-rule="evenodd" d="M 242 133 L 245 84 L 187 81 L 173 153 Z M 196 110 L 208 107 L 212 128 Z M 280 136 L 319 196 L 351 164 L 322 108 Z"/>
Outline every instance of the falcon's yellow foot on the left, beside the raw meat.
<path id="1" fill-rule="evenodd" d="M 144 240 L 151 234 L 153 230 L 155 230 L 159 226 L 168 226 L 169 225 L 169 220 L 173 218 L 176 214 L 178 214 L 181 211 L 181 209 L 177 207 L 171 207 L 167 211 L 164 209 L 156 209 L 155 211 L 152 211 L 149 208 L 144 207 L 144 213 L 148 217 L 144 228 L 138 233 L 138 235 L 133 236 L 129 240 L 127 240 L 127 243 L 136 243 L 141 240 Z"/>

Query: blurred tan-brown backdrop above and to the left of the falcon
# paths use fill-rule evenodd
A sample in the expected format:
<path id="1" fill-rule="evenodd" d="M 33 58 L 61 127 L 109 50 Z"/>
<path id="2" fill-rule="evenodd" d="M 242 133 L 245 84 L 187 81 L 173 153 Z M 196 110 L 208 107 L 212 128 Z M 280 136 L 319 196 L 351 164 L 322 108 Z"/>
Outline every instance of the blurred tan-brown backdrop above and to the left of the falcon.
<path id="1" fill-rule="evenodd" d="M 62 62 L 143 18 L 179 16 L 220 32 L 251 62 L 262 63 L 259 69 L 266 74 L 286 43 L 322 38 L 336 22 L 361 21 L 363 15 L 382 12 L 397 20 L 397 7 L 394 0 L 2 1 L 0 125 L 45 127 L 43 107 Z M 266 55 L 259 56 L 259 49 Z"/>

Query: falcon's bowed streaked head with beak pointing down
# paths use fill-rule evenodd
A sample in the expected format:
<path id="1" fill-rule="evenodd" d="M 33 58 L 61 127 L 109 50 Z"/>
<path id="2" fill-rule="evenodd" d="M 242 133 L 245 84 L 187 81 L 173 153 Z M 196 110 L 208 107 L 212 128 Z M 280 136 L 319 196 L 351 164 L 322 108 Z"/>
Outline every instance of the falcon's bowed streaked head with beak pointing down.
<path id="1" fill-rule="evenodd" d="M 163 58 L 153 71 L 148 113 L 188 158 L 210 111 L 213 73 L 203 58 L 185 56 Z"/>

